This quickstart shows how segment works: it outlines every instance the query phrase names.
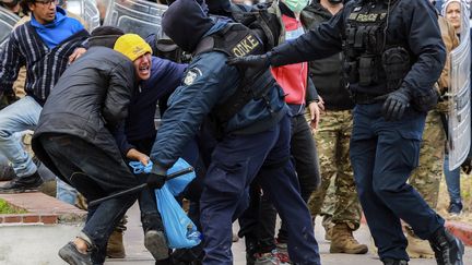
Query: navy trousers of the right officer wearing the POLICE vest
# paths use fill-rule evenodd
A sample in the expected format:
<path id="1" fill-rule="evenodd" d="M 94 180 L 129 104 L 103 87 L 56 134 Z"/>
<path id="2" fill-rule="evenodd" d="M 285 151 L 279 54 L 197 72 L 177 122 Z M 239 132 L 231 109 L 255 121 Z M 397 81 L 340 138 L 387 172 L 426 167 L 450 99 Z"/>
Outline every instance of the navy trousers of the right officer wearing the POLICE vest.
<path id="1" fill-rule="evenodd" d="M 409 260 L 400 219 L 422 239 L 428 239 L 445 222 L 406 183 L 418 164 L 426 115 L 410 108 L 400 121 L 386 121 L 381 107 L 354 108 L 351 161 L 380 258 Z"/>

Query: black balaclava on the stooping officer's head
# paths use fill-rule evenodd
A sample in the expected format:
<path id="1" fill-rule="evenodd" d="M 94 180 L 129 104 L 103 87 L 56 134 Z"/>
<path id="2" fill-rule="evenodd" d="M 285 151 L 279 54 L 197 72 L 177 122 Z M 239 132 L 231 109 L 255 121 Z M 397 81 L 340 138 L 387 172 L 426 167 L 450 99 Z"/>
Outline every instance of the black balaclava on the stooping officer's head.
<path id="1" fill-rule="evenodd" d="M 162 28 L 182 50 L 192 52 L 214 25 L 196 0 L 177 0 L 163 15 Z"/>

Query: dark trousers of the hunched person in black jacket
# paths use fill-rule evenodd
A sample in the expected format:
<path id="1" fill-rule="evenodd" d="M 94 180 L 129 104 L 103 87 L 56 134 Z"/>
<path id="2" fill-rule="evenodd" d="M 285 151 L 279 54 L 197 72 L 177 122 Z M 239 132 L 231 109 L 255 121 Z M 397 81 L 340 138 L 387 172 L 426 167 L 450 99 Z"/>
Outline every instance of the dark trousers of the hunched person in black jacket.
<path id="1" fill-rule="evenodd" d="M 58 168 L 61 178 L 91 202 L 139 184 L 117 154 L 106 154 L 80 137 L 66 134 L 43 135 L 44 149 Z M 137 194 L 115 197 L 88 207 L 82 232 L 95 246 L 94 264 L 105 262 L 106 244 L 118 221 L 135 202 Z"/>

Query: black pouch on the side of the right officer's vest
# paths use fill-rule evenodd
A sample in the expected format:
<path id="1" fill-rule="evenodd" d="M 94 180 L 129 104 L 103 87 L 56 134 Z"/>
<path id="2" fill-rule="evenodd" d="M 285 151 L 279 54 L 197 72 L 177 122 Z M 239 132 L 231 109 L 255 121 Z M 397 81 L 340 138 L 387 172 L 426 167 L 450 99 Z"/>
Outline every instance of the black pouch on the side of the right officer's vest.
<path id="1" fill-rule="evenodd" d="M 386 73 L 387 89 L 396 91 L 400 87 L 404 76 L 410 71 L 410 55 L 403 47 L 387 49 L 381 57 Z"/>

